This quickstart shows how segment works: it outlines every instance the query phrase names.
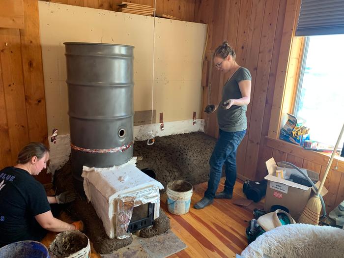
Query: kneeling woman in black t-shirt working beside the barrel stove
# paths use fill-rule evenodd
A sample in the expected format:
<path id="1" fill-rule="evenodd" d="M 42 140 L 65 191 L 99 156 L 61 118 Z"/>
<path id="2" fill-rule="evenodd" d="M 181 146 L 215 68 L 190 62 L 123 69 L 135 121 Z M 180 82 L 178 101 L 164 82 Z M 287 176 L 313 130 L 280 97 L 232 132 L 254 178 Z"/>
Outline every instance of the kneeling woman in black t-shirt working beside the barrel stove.
<path id="1" fill-rule="evenodd" d="M 82 230 L 81 221 L 68 224 L 51 212 L 49 204 L 65 203 L 66 194 L 47 197 L 43 185 L 33 178 L 46 168 L 48 160 L 46 146 L 29 143 L 19 152 L 17 165 L 0 171 L 0 247 L 23 240 L 41 241 L 47 230 Z"/>

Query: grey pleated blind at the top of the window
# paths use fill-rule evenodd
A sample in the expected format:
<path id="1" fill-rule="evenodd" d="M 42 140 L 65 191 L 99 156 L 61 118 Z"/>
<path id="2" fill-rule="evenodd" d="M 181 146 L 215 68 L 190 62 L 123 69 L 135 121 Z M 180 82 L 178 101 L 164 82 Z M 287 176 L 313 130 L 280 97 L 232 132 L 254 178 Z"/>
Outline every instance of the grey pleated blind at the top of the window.
<path id="1" fill-rule="evenodd" d="M 344 34 L 344 0 L 301 0 L 296 36 Z"/>

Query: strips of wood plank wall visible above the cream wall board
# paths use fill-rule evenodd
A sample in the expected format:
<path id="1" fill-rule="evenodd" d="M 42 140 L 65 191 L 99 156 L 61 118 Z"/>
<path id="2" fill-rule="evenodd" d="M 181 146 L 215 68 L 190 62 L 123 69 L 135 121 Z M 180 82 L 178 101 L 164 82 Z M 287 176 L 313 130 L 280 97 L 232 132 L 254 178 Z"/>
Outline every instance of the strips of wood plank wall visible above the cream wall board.
<path id="1" fill-rule="evenodd" d="M 64 4 L 78 5 L 95 9 L 117 11 L 122 0 L 50 0 Z M 154 6 L 154 0 L 123 0 Z M 156 0 L 156 14 L 168 14 L 183 21 L 193 22 L 196 0 Z"/>

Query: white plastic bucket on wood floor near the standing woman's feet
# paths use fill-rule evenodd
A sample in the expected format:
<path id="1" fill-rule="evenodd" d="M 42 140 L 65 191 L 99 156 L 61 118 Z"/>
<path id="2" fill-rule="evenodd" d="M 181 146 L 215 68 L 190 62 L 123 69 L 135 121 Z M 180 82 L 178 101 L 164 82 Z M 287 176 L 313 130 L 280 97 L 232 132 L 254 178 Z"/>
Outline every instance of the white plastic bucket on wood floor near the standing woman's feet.
<path id="1" fill-rule="evenodd" d="M 189 212 L 192 196 L 192 184 L 183 180 L 175 180 L 167 184 L 167 208 L 176 215 Z"/>

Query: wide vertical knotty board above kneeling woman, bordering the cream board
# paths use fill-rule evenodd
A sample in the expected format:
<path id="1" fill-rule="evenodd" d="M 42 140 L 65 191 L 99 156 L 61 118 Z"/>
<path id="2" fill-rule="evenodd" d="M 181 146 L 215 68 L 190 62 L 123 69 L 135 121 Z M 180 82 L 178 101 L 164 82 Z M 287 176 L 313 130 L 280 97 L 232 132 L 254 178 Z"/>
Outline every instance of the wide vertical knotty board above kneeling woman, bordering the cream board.
<path id="1" fill-rule="evenodd" d="M 25 28 L 20 30 L 29 141 L 48 145 L 38 2 L 24 0 Z"/>

